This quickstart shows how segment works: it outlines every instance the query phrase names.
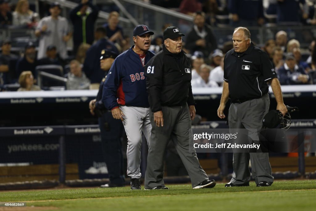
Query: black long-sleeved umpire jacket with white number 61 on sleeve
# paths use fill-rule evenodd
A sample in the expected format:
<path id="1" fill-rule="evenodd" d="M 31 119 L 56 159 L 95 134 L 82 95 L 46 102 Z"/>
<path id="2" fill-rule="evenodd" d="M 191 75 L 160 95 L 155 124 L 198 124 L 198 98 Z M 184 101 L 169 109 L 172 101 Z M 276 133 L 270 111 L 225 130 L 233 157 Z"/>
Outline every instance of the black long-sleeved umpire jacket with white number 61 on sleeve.
<path id="1" fill-rule="evenodd" d="M 163 46 L 145 65 L 148 100 L 152 112 L 161 106 L 194 105 L 191 63 L 182 50 L 173 54 Z"/>

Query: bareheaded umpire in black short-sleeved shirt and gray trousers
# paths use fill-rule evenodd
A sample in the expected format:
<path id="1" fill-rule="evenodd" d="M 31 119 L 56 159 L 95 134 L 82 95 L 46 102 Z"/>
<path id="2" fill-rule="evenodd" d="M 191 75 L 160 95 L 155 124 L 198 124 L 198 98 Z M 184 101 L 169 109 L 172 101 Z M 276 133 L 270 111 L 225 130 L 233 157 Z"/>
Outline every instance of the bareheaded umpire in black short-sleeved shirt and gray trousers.
<path id="1" fill-rule="evenodd" d="M 269 111 L 267 82 L 271 84 L 276 97 L 276 109 L 285 115 L 287 108 L 269 56 L 253 45 L 249 30 L 244 27 L 236 28 L 233 44 L 234 49 L 228 51 L 224 58 L 224 84 L 217 115 L 221 119 L 225 118 L 223 111 L 230 97 L 232 103 L 228 112 L 229 128 L 246 128 L 251 134 L 253 129 L 257 131 L 262 128 L 263 117 Z M 252 164 L 252 178 L 257 186 L 270 186 L 273 183 L 268 153 L 245 152 L 233 154 L 233 178 L 225 187 L 249 186 L 249 159 Z"/>

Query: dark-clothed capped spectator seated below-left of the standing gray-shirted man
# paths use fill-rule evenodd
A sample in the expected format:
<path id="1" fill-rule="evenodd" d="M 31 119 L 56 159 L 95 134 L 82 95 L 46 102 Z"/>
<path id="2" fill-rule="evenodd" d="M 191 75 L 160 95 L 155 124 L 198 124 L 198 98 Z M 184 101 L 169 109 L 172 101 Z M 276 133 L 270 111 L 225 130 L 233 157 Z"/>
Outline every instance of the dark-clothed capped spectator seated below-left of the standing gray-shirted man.
<path id="1" fill-rule="evenodd" d="M 30 42 L 25 46 L 24 57 L 19 59 L 16 63 L 16 74 L 20 75 L 23 71 L 31 71 L 33 76 L 37 78 L 37 73 L 35 71 L 36 65 L 35 46 Z"/>

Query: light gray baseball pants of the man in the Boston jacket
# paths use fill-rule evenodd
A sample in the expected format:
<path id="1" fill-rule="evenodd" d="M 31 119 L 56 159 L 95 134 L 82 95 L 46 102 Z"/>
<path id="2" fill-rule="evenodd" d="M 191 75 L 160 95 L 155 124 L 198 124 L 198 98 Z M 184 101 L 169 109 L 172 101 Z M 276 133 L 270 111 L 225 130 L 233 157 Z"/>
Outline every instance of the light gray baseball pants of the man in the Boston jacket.
<path id="1" fill-rule="evenodd" d="M 122 110 L 123 125 L 127 135 L 127 176 L 131 178 L 140 178 L 142 132 L 150 143 L 151 124 L 149 121 L 149 108 L 134 106 L 119 106 Z"/>

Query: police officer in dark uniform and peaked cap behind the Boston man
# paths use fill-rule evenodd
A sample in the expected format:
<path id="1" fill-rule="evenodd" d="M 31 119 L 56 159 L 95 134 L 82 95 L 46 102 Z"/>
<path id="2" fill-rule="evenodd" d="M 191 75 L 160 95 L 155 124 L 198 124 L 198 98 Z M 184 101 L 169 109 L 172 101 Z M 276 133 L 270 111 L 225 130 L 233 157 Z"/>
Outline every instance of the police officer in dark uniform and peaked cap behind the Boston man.
<path id="1" fill-rule="evenodd" d="M 103 84 L 106 79 L 107 71 L 110 69 L 117 56 L 118 54 L 114 51 L 101 51 L 100 67 L 103 71 L 106 71 L 106 73 L 100 84 L 96 99 L 91 100 L 89 103 L 90 113 L 98 116 L 101 131 L 102 152 L 110 178 L 110 183 L 101 185 L 101 188 L 120 187 L 125 185 L 121 144 L 123 124 L 122 121 L 112 117 L 111 112 L 105 108 L 102 102 Z"/>

